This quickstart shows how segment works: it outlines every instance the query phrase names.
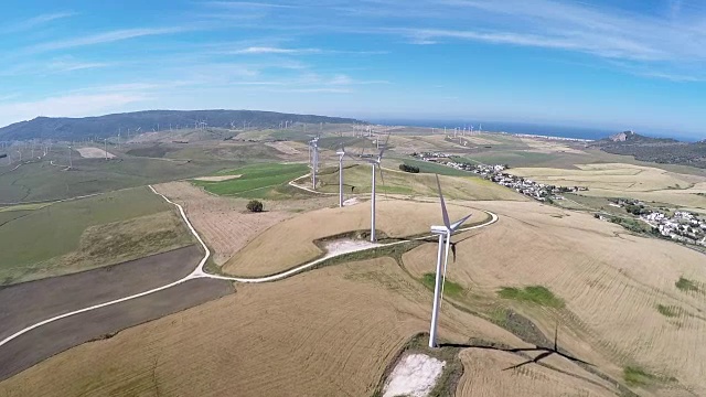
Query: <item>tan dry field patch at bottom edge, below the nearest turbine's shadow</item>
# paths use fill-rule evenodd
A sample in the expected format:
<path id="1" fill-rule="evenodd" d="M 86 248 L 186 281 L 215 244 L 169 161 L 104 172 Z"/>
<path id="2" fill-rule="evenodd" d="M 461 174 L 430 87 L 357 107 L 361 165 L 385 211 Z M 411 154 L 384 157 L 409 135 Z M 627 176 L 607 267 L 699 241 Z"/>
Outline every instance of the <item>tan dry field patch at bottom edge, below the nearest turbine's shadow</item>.
<path id="1" fill-rule="evenodd" d="M 606 380 L 559 358 L 543 362 L 566 372 L 531 364 L 514 371 L 499 371 L 521 363 L 512 353 L 464 350 L 460 354 L 463 376 L 457 396 L 614 396 Z"/>

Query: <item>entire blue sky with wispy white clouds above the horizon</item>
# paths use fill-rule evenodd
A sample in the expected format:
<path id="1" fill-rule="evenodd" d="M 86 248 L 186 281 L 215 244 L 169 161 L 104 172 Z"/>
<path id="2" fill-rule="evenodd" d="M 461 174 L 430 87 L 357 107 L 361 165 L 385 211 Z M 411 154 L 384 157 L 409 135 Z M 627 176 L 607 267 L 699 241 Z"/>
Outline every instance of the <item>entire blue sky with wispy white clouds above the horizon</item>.
<path id="1" fill-rule="evenodd" d="M 0 4 L 0 125 L 141 109 L 525 121 L 706 138 L 706 4 Z"/>

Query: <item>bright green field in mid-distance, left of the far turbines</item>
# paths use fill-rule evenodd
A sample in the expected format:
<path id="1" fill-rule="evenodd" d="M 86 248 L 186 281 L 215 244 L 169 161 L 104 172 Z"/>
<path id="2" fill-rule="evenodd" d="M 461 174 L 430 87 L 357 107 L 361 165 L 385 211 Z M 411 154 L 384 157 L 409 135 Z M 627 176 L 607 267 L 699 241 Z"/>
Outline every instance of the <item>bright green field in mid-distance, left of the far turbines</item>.
<path id="1" fill-rule="evenodd" d="M 206 191 L 218 194 L 248 198 L 277 198 L 276 187 L 309 172 L 307 164 L 250 164 L 221 171 L 218 175 L 240 175 L 238 179 L 222 182 L 192 181 Z"/>

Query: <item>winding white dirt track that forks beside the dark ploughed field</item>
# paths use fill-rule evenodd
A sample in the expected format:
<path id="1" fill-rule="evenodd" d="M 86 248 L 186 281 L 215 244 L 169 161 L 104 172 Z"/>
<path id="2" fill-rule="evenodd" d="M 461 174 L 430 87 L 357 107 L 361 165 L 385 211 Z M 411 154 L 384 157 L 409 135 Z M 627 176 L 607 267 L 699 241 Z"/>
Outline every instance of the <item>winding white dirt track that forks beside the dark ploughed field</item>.
<path id="1" fill-rule="evenodd" d="M 154 194 L 160 195 L 162 198 L 164 198 L 164 201 L 167 201 L 168 203 L 173 204 L 174 206 L 176 206 L 176 208 L 179 210 L 179 213 L 181 214 L 182 219 L 184 221 L 184 223 L 189 227 L 189 230 L 191 230 L 191 233 L 194 235 L 196 240 L 199 240 L 199 244 L 201 244 L 201 246 L 203 247 L 205 254 L 204 254 L 203 258 L 201 259 L 201 261 L 199 262 L 199 265 L 196 266 L 196 268 L 191 273 L 186 275 L 185 277 L 183 277 L 183 278 L 181 278 L 181 279 L 179 279 L 179 280 L 176 280 L 174 282 L 170 282 L 168 285 L 164 285 L 162 287 L 153 288 L 153 289 L 140 292 L 140 293 L 135 293 L 135 294 L 131 294 L 131 296 L 128 296 L 128 297 L 125 297 L 125 298 L 115 299 L 115 300 L 107 301 L 107 302 L 104 302 L 104 303 L 94 304 L 94 305 L 90 305 L 90 307 L 87 307 L 87 308 L 84 308 L 84 309 L 75 310 L 75 311 L 72 311 L 72 312 L 67 312 L 67 313 L 64 313 L 64 314 L 61 314 L 61 315 L 56 315 L 56 316 L 46 319 L 44 321 L 40 321 L 40 322 L 38 322 L 35 324 L 32 324 L 30 326 L 26 326 L 26 328 L 20 330 L 18 332 L 15 332 L 14 334 L 12 334 L 12 335 L 6 337 L 4 340 L 0 341 L 0 346 L 4 345 L 7 343 L 10 343 L 12 340 L 19 337 L 20 335 L 23 335 L 23 334 L 25 334 L 25 333 L 28 333 L 28 332 L 30 332 L 32 330 L 35 330 L 35 329 L 38 329 L 38 328 L 40 328 L 42 325 L 46 325 L 49 323 L 52 323 L 52 322 L 55 322 L 55 321 L 58 321 L 58 320 L 62 320 L 62 319 L 65 319 L 65 318 L 72 316 L 72 315 L 85 313 L 85 312 L 88 312 L 88 311 L 92 311 L 92 310 L 97 310 L 97 309 L 100 309 L 100 308 L 110 307 L 110 305 L 114 305 L 114 304 L 122 303 L 122 302 L 126 302 L 126 301 L 129 301 L 129 300 L 133 300 L 133 299 L 138 299 L 138 298 L 141 298 L 141 297 L 145 297 L 145 296 L 149 296 L 149 294 L 152 294 L 152 293 L 156 293 L 156 292 L 159 292 L 159 291 L 163 291 L 165 289 L 179 286 L 179 285 L 181 285 L 183 282 L 189 281 L 189 280 L 193 280 L 193 279 L 197 279 L 197 278 L 211 278 L 211 279 L 217 279 L 217 280 L 228 280 L 228 281 L 235 281 L 235 282 L 253 282 L 253 283 L 276 281 L 276 280 L 281 280 L 281 279 L 287 278 L 289 276 L 299 273 L 299 272 L 301 272 L 303 270 L 307 270 L 307 269 L 309 269 L 309 268 L 311 268 L 313 266 L 317 266 L 318 264 L 321 264 L 324 260 L 328 260 L 328 259 L 331 259 L 331 258 L 335 258 L 335 257 L 339 257 L 341 255 L 347 255 L 347 254 L 351 254 L 351 253 L 359 253 L 359 251 L 364 251 L 364 250 L 368 250 L 368 249 L 375 249 L 375 248 L 378 248 L 378 247 L 386 247 L 386 246 L 393 246 L 393 245 L 407 243 L 407 240 L 402 240 L 402 242 L 395 242 L 395 243 L 389 243 L 389 244 L 381 244 L 381 245 L 378 245 L 376 247 L 363 247 L 363 248 L 360 248 L 360 249 L 349 250 L 346 253 L 341 253 L 341 254 L 335 254 L 335 255 L 327 255 L 327 256 L 324 256 L 322 258 L 319 258 L 319 259 L 310 261 L 308 264 L 298 266 L 298 267 L 296 267 L 293 269 L 290 269 L 290 270 L 287 270 L 287 271 L 282 271 L 280 273 L 272 275 L 272 276 L 267 276 L 267 277 L 239 278 L 239 277 L 227 277 L 227 276 L 210 275 L 210 273 L 206 273 L 204 271 L 203 267 L 206 264 L 206 260 L 208 260 L 208 258 L 211 257 L 211 250 L 204 244 L 204 242 L 201 238 L 201 236 L 199 235 L 199 233 L 196 233 L 196 229 L 193 227 L 193 225 L 189 221 L 189 217 L 186 217 L 186 213 L 184 212 L 184 208 L 180 204 L 176 204 L 176 203 L 172 202 L 171 200 L 169 200 L 163 194 L 158 193 L 151 185 L 149 185 L 149 187 L 150 187 L 150 190 L 152 190 L 152 192 Z M 484 212 L 488 215 L 490 215 L 490 217 L 491 217 L 490 221 L 488 221 L 488 222 L 485 222 L 483 224 L 480 224 L 480 225 L 470 226 L 470 227 L 466 227 L 466 228 L 459 229 L 459 232 L 467 232 L 467 230 L 472 230 L 472 229 L 475 229 L 475 228 L 485 227 L 485 226 L 492 225 L 495 222 L 498 222 L 498 215 L 495 215 L 494 213 L 489 212 L 489 211 L 484 211 Z M 416 239 L 421 240 L 421 239 L 425 239 L 425 238 L 429 238 L 429 236 L 418 237 Z"/>

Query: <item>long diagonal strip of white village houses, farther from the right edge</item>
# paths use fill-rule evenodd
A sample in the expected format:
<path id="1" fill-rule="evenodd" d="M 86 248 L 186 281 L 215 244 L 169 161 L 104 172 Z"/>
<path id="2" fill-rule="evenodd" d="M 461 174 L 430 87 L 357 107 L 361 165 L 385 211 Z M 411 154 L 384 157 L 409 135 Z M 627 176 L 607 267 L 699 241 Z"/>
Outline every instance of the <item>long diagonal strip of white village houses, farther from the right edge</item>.
<path id="1" fill-rule="evenodd" d="M 588 187 L 584 186 L 555 186 L 544 183 L 537 183 L 535 181 L 511 175 L 504 172 L 507 165 L 503 164 L 471 164 L 468 162 L 458 162 L 451 160 L 451 155 L 442 152 L 424 152 L 414 153 L 416 158 L 422 161 L 435 162 L 438 164 L 454 168 L 457 170 L 473 172 L 486 180 L 493 181 L 500 185 L 514 189 L 517 193 L 524 194 L 541 202 L 550 200 L 563 200 L 561 193 L 587 191 Z"/>

